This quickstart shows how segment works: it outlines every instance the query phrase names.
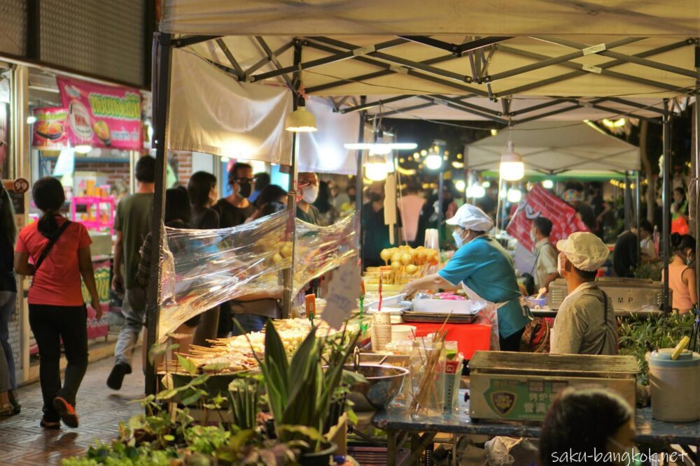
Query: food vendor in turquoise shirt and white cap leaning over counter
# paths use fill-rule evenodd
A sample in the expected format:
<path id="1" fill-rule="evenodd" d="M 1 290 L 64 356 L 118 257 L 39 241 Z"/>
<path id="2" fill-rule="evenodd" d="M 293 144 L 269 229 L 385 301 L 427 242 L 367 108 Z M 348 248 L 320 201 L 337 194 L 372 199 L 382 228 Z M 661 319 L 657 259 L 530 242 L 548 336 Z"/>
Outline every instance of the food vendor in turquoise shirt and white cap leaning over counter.
<path id="1" fill-rule="evenodd" d="M 493 221 L 479 207 L 465 204 L 447 224 L 454 226 L 454 256 L 437 274 L 409 282 L 403 292 L 456 289 L 461 284 L 470 299 L 484 303 L 482 315 L 491 321 L 491 349 L 519 351 L 529 319 L 520 304 L 513 261 L 487 234 Z"/>

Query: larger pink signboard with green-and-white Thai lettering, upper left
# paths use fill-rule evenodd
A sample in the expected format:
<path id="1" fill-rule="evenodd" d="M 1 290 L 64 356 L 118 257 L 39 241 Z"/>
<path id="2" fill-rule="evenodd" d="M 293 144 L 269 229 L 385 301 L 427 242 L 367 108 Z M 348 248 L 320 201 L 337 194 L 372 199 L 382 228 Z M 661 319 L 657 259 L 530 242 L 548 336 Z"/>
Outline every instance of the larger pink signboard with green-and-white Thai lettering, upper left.
<path id="1" fill-rule="evenodd" d="M 141 150 L 141 94 L 137 89 L 62 77 L 56 82 L 67 110 L 71 145 Z"/>

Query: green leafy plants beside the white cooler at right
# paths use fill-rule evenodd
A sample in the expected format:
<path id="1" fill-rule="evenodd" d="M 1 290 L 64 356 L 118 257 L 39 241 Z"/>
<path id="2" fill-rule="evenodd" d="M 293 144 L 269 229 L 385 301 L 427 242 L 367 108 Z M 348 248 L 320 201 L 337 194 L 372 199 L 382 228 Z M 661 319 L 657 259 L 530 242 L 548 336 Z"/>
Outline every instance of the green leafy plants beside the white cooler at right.
<path id="1" fill-rule="evenodd" d="M 692 313 L 630 318 L 622 321 L 619 354 L 634 356 L 639 364 L 640 384 L 649 384 L 649 368 L 645 354 L 654 349 L 673 348 L 685 335 L 690 336 L 694 323 Z"/>

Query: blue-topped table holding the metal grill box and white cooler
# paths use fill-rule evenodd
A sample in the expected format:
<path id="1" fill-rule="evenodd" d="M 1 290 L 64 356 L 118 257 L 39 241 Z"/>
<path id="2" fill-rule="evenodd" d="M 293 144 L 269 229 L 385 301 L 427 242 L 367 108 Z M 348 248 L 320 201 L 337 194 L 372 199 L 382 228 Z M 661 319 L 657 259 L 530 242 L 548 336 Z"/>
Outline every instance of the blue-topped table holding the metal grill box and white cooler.
<path id="1" fill-rule="evenodd" d="M 426 448 L 431 448 L 438 433 L 451 435 L 503 435 L 507 437 L 537 438 L 540 425 L 522 423 L 496 423 L 493 421 L 472 421 L 469 416 L 469 402 L 464 400 L 467 393 L 459 393 L 459 411 L 442 416 L 421 416 L 410 418 L 404 407 L 390 406 L 385 411 L 374 415 L 372 423 L 385 430 L 388 438 L 388 464 L 413 465 Z M 638 444 L 668 446 L 680 445 L 687 453 L 686 458 L 700 465 L 700 421 L 692 423 L 667 423 L 652 418 L 651 408 L 636 410 Z M 411 439 L 411 453 L 407 460 L 396 463 L 397 448 L 407 437 Z M 696 447 L 696 451 L 690 449 Z M 426 463 L 427 464 L 427 463 Z"/>

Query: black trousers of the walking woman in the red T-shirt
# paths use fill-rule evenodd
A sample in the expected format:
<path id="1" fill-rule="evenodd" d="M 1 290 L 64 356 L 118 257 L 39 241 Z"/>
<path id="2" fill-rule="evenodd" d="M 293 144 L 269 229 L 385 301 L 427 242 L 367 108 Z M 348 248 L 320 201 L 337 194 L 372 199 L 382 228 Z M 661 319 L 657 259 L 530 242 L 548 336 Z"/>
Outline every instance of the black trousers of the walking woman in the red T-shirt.
<path id="1" fill-rule="evenodd" d="M 39 348 L 39 380 L 44 419 L 58 421 L 53 399 L 61 396 L 75 406 L 76 393 L 87 370 L 87 310 L 85 306 L 29 305 L 29 326 Z M 61 388 L 61 342 L 66 374 Z"/>

